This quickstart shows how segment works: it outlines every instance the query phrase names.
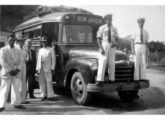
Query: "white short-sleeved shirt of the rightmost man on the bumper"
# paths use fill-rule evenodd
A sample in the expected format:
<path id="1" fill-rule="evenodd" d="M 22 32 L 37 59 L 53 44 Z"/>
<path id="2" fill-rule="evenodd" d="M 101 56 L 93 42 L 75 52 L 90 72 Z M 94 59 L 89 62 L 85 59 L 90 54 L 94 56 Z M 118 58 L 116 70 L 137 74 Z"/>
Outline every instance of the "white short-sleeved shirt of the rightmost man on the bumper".
<path id="1" fill-rule="evenodd" d="M 144 43 L 147 43 L 149 40 L 149 34 L 148 32 L 143 28 L 143 41 Z M 131 36 L 132 39 L 134 39 L 134 43 L 141 43 L 140 40 L 140 28 Z"/>

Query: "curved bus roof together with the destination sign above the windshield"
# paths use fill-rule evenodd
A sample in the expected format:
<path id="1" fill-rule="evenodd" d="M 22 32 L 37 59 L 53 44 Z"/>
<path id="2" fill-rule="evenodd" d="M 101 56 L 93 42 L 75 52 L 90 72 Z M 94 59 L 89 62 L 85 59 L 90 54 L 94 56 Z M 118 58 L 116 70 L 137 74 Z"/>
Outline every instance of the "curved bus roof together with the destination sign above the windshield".
<path id="1" fill-rule="evenodd" d="M 82 12 L 54 12 L 46 15 L 36 15 L 35 17 L 23 22 L 15 27 L 14 32 L 39 25 L 46 22 L 63 22 L 63 23 L 85 23 L 101 25 L 103 19 L 101 16 L 92 15 Z"/>

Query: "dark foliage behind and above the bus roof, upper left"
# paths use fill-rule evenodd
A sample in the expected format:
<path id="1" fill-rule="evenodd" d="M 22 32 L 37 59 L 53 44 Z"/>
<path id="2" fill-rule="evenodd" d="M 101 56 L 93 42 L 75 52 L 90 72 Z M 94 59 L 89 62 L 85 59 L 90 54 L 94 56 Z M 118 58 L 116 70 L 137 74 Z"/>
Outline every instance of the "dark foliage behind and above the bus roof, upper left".
<path id="1" fill-rule="evenodd" d="M 39 5 L 2 5 L 0 26 L 2 31 L 11 32 L 13 28 L 23 22 L 30 14 L 38 11 L 43 12 L 83 12 L 92 14 L 91 12 L 75 7 L 67 6 L 39 6 Z"/>

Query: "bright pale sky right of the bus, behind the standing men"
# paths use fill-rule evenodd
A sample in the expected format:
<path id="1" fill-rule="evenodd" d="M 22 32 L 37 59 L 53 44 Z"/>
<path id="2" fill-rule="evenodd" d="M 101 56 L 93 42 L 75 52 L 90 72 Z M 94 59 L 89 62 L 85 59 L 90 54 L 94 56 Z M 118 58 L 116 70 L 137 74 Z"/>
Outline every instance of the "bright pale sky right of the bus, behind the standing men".
<path id="1" fill-rule="evenodd" d="M 133 34 L 138 28 L 137 18 L 146 19 L 144 28 L 148 31 L 150 41 L 165 42 L 165 5 L 80 5 L 80 8 L 104 16 L 113 14 L 113 25 L 120 37 Z"/>

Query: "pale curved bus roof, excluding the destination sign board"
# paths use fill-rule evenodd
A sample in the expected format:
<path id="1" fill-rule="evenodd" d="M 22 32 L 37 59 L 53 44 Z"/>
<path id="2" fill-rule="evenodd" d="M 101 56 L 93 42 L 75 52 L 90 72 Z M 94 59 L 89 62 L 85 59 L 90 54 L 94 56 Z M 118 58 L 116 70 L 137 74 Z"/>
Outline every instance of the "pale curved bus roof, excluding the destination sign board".
<path id="1" fill-rule="evenodd" d="M 75 15 L 75 16 L 76 15 L 85 15 L 85 16 L 93 16 L 93 17 L 102 19 L 101 16 L 82 13 L 82 12 L 55 12 L 55 13 L 50 13 L 50 14 L 46 14 L 43 16 L 36 15 L 36 17 L 33 17 L 33 18 L 19 24 L 18 26 L 16 26 L 14 29 L 14 32 L 29 28 L 29 27 L 32 27 L 35 25 L 39 25 L 42 23 L 46 23 L 46 22 L 63 22 L 64 18 L 69 15 Z"/>

